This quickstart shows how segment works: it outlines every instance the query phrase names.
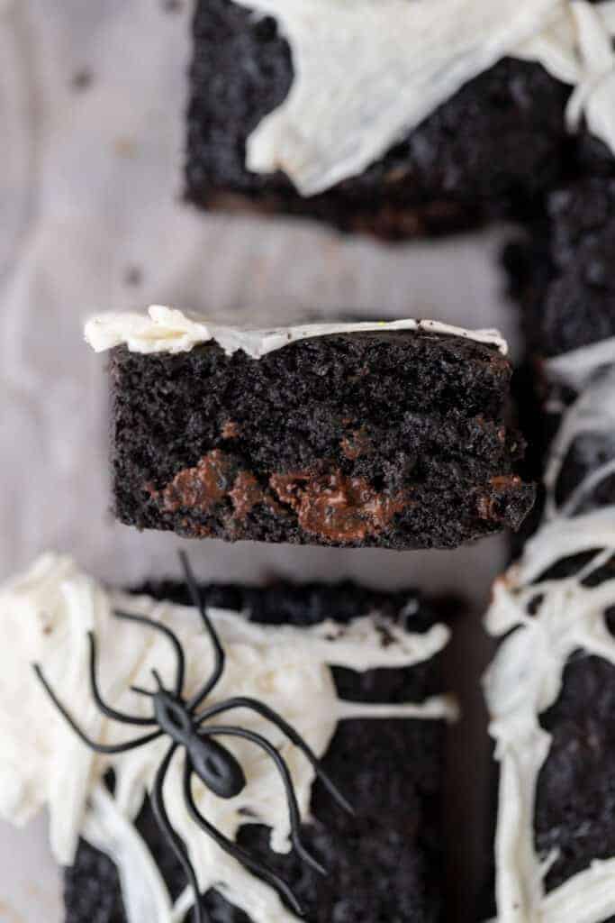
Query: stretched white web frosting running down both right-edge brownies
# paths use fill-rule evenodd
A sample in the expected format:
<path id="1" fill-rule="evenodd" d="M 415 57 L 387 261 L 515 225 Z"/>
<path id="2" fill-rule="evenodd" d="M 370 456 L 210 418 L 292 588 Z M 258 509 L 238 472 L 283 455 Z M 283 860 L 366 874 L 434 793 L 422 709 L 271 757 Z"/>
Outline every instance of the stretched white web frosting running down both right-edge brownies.
<path id="1" fill-rule="evenodd" d="M 578 397 L 564 410 L 551 446 L 545 521 L 521 560 L 496 581 L 486 618 L 492 635 L 512 631 L 484 677 L 500 762 L 498 921 L 602 923 L 615 914 L 615 857 L 591 863 L 546 893 L 544 881 L 558 854 L 538 856 L 534 816 L 538 774 L 551 745 L 540 715 L 558 700 L 568 659 L 581 650 L 615 665 L 615 638 L 606 622 L 615 606 L 615 505 L 600 508 L 596 501 L 615 474 L 615 340 L 558 356 L 547 373 L 552 384 Z M 566 462 L 587 437 L 607 446 L 606 458 L 585 469 L 563 498 Z M 566 575 L 552 576 L 555 565 L 575 556 L 582 563 L 572 573 L 566 567 Z"/>

